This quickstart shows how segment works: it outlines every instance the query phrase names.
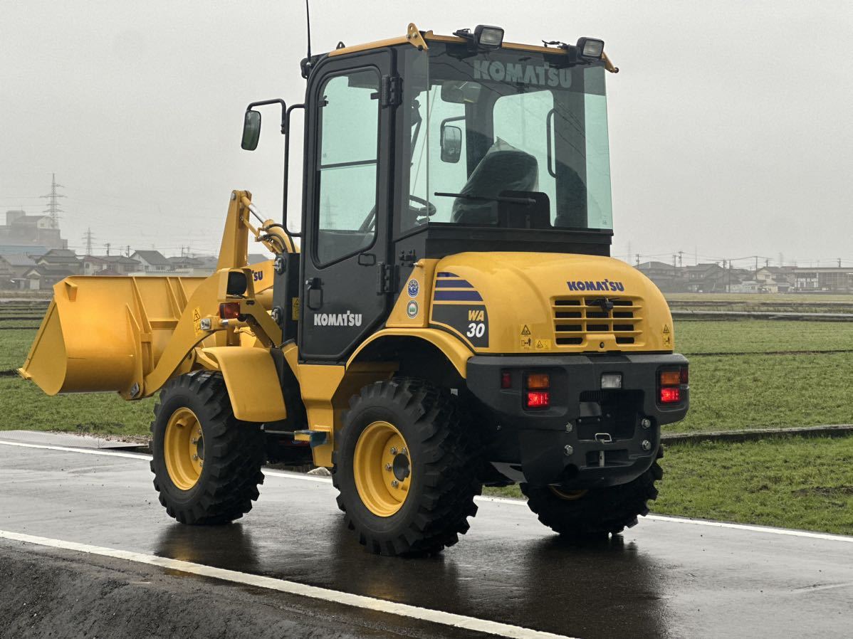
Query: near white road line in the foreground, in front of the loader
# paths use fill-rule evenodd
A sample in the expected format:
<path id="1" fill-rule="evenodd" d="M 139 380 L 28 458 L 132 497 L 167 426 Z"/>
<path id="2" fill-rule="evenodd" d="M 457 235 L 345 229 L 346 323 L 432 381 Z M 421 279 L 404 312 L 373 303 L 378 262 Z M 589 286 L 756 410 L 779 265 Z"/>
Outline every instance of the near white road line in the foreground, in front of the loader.
<path id="1" fill-rule="evenodd" d="M 131 552 L 130 550 L 117 550 L 114 548 L 103 548 L 102 546 L 90 546 L 88 544 L 78 544 L 72 541 L 35 537 L 33 535 L 12 533 L 4 530 L 0 530 L 0 538 L 20 541 L 26 544 L 38 544 L 40 546 L 48 546 L 50 548 L 59 548 L 62 550 L 76 550 L 89 555 L 135 561 L 136 563 L 144 563 L 150 566 L 177 570 L 182 573 L 200 575 L 201 577 L 210 577 L 212 579 L 220 579 L 235 584 L 256 586 L 267 590 L 277 590 L 279 592 L 287 593 L 288 595 L 299 595 L 311 597 L 312 599 L 322 599 L 322 601 L 325 602 L 365 608 L 367 610 L 375 610 L 380 613 L 396 614 L 400 617 L 421 619 L 422 621 L 428 621 L 433 624 L 450 625 L 454 628 L 473 630 L 474 632 L 485 632 L 490 635 L 512 637 L 513 639 L 569 639 L 569 637 L 564 635 L 554 635 L 550 632 L 532 630 L 518 625 L 502 624 L 497 621 L 477 619 L 476 617 L 466 617 L 461 614 L 444 613 L 440 610 L 409 606 L 404 603 L 386 602 L 384 599 L 375 599 L 374 597 L 363 595 L 352 595 L 348 592 L 299 584 L 294 581 L 286 581 L 285 579 L 261 577 L 248 573 L 240 573 L 235 570 L 203 566 L 198 563 L 191 563 L 190 561 L 180 561 L 177 559 L 168 559 L 166 557 L 144 555 L 138 552 Z"/>

